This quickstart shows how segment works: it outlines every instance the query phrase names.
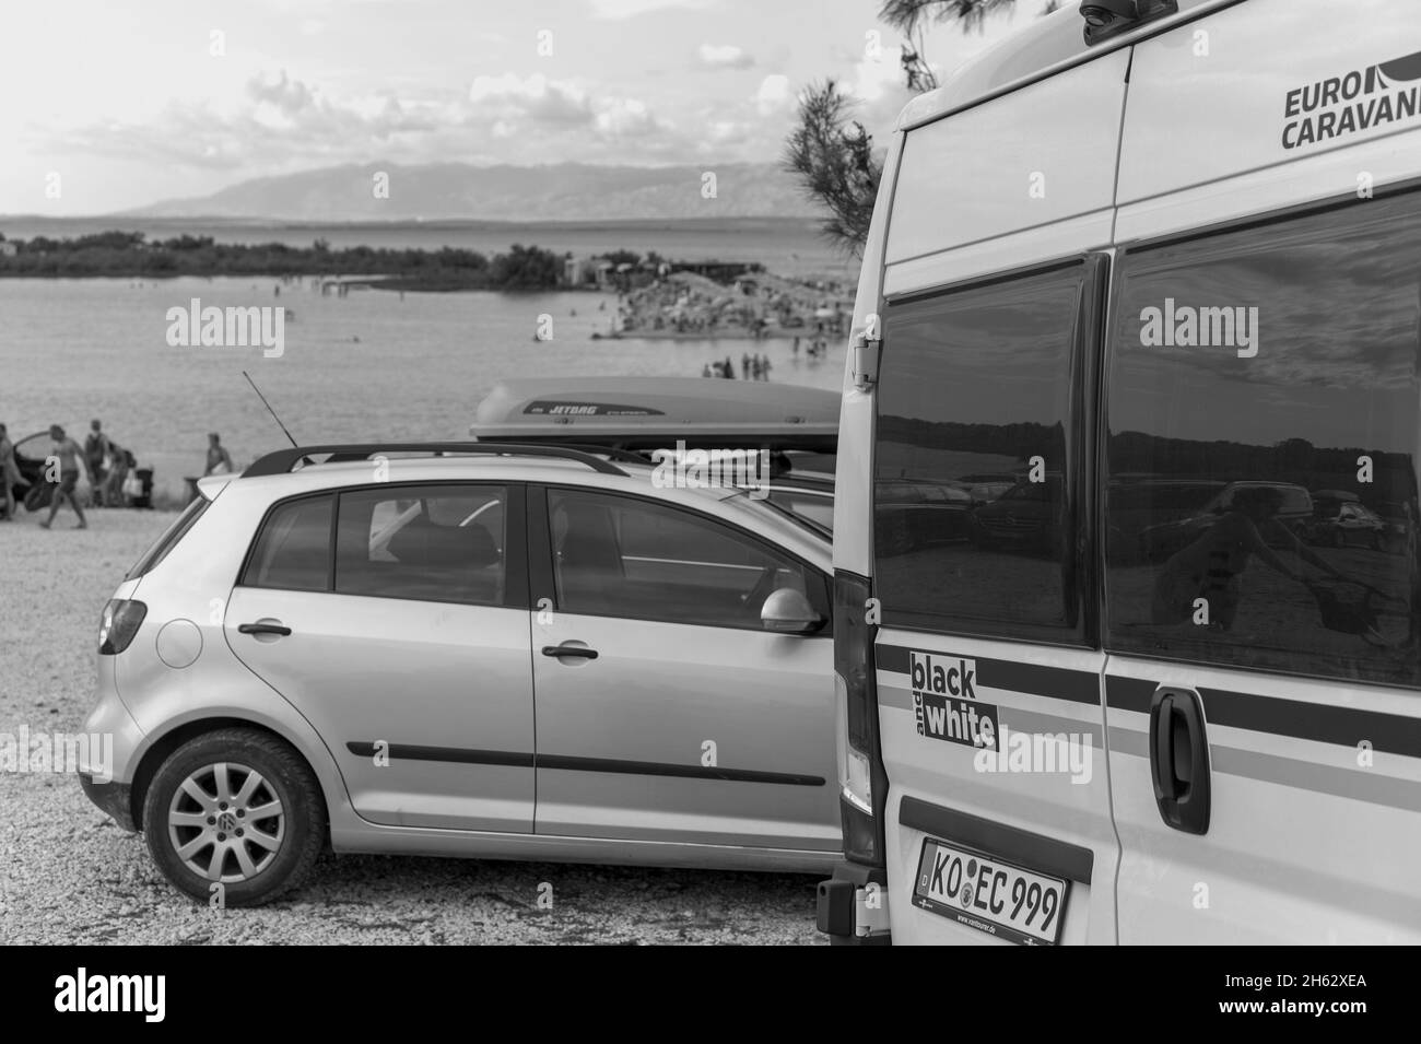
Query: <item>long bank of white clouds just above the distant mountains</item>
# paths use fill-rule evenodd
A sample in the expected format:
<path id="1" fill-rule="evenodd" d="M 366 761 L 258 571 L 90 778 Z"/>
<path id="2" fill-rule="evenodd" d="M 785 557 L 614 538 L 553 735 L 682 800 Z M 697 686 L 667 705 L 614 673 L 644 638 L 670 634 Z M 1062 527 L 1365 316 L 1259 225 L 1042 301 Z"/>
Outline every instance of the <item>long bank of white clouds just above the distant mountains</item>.
<path id="1" fill-rule="evenodd" d="M 676 118 L 631 95 L 590 94 L 546 75 L 485 75 L 468 89 L 418 97 L 392 92 L 331 98 L 286 72 L 253 77 L 230 107 L 172 102 L 136 121 L 94 121 L 68 129 L 34 126 L 38 148 L 161 165 L 172 172 L 279 175 L 317 165 L 441 161 L 547 163 L 684 163 L 760 159 L 774 142 L 750 132 L 723 107 L 681 109 Z M 713 126 L 716 121 L 737 121 Z M 756 149 L 759 152 L 756 152 Z"/>

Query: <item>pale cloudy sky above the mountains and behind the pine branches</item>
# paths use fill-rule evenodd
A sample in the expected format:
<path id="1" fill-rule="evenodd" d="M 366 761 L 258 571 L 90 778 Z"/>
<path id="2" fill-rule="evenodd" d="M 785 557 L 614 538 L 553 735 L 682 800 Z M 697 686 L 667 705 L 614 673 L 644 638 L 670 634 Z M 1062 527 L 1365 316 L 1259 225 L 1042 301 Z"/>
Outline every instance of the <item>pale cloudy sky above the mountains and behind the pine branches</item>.
<path id="1" fill-rule="evenodd" d="M 340 163 L 774 162 L 826 77 L 882 141 L 908 92 L 878 6 L 9 3 L 0 213 L 111 213 Z M 948 74 L 1043 6 L 936 27 L 925 54 Z"/>

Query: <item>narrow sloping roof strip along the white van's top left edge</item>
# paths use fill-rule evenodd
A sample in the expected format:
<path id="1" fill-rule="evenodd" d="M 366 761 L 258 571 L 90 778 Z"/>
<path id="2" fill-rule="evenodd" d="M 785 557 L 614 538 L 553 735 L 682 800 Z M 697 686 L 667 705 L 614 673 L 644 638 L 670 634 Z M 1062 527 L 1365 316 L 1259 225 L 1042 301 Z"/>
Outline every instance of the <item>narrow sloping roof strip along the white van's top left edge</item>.
<path id="1" fill-rule="evenodd" d="M 953 72 L 942 87 L 909 101 L 898 116 L 898 129 L 907 131 L 932 122 L 1235 3 L 1242 0 L 1178 0 L 1177 14 L 1154 18 L 1140 28 L 1091 47 L 1086 43 L 1086 21 L 1080 17 L 1080 4 L 1073 0 L 989 47 Z"/>

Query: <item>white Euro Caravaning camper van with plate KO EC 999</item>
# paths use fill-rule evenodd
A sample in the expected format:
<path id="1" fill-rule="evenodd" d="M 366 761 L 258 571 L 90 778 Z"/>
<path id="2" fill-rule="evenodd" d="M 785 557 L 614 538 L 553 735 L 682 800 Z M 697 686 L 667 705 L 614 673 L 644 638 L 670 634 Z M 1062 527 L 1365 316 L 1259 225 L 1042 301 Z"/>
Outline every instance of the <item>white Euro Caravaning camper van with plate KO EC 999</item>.
<path id="1" fill-rule="evenodd" d="M 914 99 L 844 385 L 821 930 L 1421 942 L 1418 406 L 1421 4 L 1071 4 Z M 1040 493 L 885 540 L 976 473 Z M 1304 541 L 1302 490 L 1403 533 Z"/>

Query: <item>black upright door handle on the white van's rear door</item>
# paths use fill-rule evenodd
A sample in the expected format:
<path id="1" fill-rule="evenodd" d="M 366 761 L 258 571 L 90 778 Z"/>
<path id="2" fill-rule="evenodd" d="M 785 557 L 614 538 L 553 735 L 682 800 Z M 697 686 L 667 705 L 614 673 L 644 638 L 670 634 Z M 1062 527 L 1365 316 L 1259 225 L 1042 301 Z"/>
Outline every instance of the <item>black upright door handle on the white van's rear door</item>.
<path id="1" fill-rule="evenodd" d="M 1150 776 L 1165 824 L 1185 834 L 1209 832 L 1209 741 L 1198 693 L 1155 689 L 1150 703 Z"/>

